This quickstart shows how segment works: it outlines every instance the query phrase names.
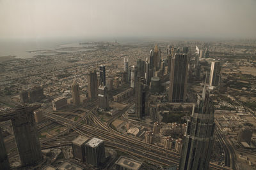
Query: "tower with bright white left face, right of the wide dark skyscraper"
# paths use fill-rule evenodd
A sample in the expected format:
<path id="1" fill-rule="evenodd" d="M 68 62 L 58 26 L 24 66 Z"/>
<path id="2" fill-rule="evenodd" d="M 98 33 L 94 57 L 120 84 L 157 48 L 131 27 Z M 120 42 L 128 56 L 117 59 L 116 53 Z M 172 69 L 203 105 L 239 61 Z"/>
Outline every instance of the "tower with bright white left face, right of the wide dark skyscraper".
<path id="1" fill-rule="evenodd" d="M 212 86 L 220 85 L 220 77 L 221 77 L 220 61 L 212 61 L 209 85 L 212 85 Z"/>

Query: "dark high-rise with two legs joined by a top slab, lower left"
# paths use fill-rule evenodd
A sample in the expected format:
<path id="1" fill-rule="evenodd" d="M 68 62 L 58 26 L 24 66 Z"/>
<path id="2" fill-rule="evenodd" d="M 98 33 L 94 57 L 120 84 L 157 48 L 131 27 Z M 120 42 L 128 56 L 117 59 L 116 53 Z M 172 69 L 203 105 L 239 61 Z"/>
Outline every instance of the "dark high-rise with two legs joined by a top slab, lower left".
<path id="1" fill-rule="evenodd" d="M 13 134 L 22 166 L 34 165 L 42 160 L 40 141 L 33 113 L 38 108 L 38 106 L 19 106 L 0 113 L 0 122 L 12 121 Z M 6 166 L 6 155 L 4 154 L 6 151 L 2 145 L 2 139 L 0 138 L 0 163 L 5 162 L 3 166 Z M 1 164 L 0 167 L 2 166 Z"/>

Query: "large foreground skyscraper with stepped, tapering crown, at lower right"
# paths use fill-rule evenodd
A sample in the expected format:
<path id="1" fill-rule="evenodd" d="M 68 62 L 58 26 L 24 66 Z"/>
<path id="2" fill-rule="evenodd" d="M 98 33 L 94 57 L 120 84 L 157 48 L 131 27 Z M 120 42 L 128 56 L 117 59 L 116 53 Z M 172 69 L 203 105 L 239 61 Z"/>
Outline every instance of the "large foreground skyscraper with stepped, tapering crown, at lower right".
<path id="1" fill-rule="evenodd" d="M 192 115 L 187 122 L 186 134 L 182 143 L 180 170 L 207 170 L 214 142 L 214 104 L 209 90 L 198 97 Z"/>

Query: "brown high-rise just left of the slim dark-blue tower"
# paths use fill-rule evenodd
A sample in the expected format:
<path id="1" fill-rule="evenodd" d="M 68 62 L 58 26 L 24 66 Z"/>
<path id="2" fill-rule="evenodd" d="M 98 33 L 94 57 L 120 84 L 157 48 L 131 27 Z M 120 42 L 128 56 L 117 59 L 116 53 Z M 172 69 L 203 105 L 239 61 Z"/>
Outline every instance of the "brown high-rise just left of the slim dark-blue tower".
<path id="1" fill-rule="evenodd" d="M 91 99 L 97 99 L 98 97 L 98 80 L 96 71 L 90 71 L 87 76 L 88 80 L 88 96 Z"/>

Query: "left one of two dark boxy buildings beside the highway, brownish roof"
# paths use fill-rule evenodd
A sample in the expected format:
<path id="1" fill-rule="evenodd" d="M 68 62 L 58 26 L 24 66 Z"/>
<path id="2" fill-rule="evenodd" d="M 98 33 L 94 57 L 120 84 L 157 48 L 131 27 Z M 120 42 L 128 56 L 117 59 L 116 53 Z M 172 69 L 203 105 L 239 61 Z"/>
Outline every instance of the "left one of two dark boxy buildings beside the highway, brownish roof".
<path id="1" fill-rule="evenodd" d="M 72 150 L 73 156 L 76 159 L 85 162 L 85 143 L 89 140 L 89 138 L 85 136 L 78 136 L 76 139 L 72 141 Z"/>

